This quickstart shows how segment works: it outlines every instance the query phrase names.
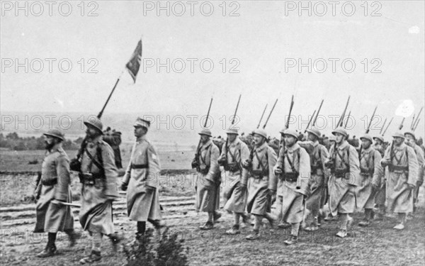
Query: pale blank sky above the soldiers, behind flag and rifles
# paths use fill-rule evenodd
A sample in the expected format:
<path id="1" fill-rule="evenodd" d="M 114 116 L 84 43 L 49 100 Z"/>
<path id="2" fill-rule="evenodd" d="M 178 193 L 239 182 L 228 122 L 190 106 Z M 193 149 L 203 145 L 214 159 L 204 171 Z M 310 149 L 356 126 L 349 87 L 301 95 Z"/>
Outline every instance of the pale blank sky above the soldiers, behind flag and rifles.
<path id="1" fill-rule="evenodd" d="M 232 115 L 242 93 L 238 111 L 242 128 L 254 128 L 264 105 L 268 104 L 270 110 L 278 97 L 268 126 L 268 131 L 277 131 L 283 127 L 291 94 L 295 94 L 293 114 L 302 116 L 317 109 L 321 99 L 321 114 L 339 115 L 348 95 L 348 111 L 352 109 L 356 118 L 370 116 L 376 104 L 377 114 L 384 117 L 393 116 L 404 99 L 413 101 L 415 113 L 424 105 L 424 1 L 380 1 L 378 13 L 382 16 L 370 16 L 376 9 L 371 2 L 368 16 L 364 16 L 363 1 L 353 1 L 356 12 L 344 16 L 341 1 L 336 16 L 327 5 L 327 14 L 322 17 L 314 12 L 307 16 L 307 11 L 298 16 L 297 10 L 285 16 L 284 1 L 238 1 L 240 16 L 222 16 L 222 1 L 210 1 L 215 8 L 212 16 L 200 13 L 202 1 L 195 6 L 194 16 L 188 4 L 183 16 L 166 16 L 165 11 L 157 16 L 156 10 L 144 16 L 142 1 L 96 1 L 98 16 L 81 16 L 77 6 L 80 1 L 69 2 L 73 7 L 70 16 L 61 16 L 57 4 L 52 16 L 47 5 L 42 16 L 24 16 L 23 11 L 15 16 L 14 9 L 2 10 L 2 64 L 5 58 L 18 58 L 20 62 L 25 58 L 68 58 L 73 66 L 69 73 L 60 72 L 57 61 L 52 73 L 46 61 L 41 73 L 25 73 L 23 67 L 18 72 L 14 67 L 6 68 L 0 73 L 1 111 L 98 113 L 140 37 L 144 58 L 162 62 L 167 58 L 210 58 L 214 69 L 203 73 L 196 64 L 191 73 L 188 61 L 183 73 L 166 73 L 164 67 L 159 73 L 155 67 L 146 73 L 141 69 L 136 84 L 125 73 L 104 116 L 125 112 L 203 116 L 213 95 L 212 115 L 219 118 Z M 227 13 L 234 9 L 229 3 Z M 89 10 L 86 6 L 86 13 Z M 346 10 L 350 11 L 349 7 Z M 81 73 L 77 64 L 81 58 L 95 58 L 98 73 Z M 237 58 L 240 72 L 228 73 L 227 69 L 222 73 L 222 58 L 227 59 L 227 67 L 232 65 L 231 58 Z M 331 72 L 330 61 L 324 73 L 308 73 L 305 67 L 302 73 L 297 67 L 285 73 L 285 58 L 340 61 L 336 73 Z M 353 73 L 341 68 L 346 58 L 356 62 Z M 364 58 L 369 60 L 368 73 L 363 72 Z M 376 65 L 370 62 L 373 58 L 382 62 L 382 73 L 370 73 Z M 86 62 L 85 66 L 87 71 L 90 64 Z M 421 135 L 424 120 L 422 112 L 417 130 Z M 399 121 L 401 118 L 395 118 L 392 126 Z M 404 125 L 411 121 L 412 117 L 407 118 Z"/>

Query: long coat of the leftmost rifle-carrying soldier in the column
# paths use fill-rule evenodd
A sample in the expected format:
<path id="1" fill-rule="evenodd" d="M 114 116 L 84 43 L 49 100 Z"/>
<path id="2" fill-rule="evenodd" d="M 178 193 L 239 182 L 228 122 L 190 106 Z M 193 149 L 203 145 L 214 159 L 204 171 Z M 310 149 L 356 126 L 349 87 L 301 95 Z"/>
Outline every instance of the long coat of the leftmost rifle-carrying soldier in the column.
<path id="1" fill-rule="evenodd" d="M 206 174 L 199 171 L 196 178 L 196 211 L 212 212 L 217 209 L 217 196 L 220 197 L 220 167 L 217 163 L 220 152 L 208 140 L 200 146 L 198 154 L 200 169 L 207 167 L 209 170 Z"/>

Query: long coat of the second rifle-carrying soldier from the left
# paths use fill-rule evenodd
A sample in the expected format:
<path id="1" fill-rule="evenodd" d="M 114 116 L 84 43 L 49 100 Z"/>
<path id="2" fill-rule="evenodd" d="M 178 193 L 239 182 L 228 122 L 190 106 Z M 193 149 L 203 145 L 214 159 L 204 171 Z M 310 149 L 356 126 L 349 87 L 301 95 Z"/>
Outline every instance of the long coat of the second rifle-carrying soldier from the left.
<path id="1" fill-rule="evenodd" d="M 227 163 L 236 162 L 239 170 L 231 172 L 220 167 L 225 209 L 242 213 L 246 207 L 246 189 L 241 187 L 241 182 L 242 179 L 246 182 L 248 176 L 248 170 L 242 167 L 242 162 L 249 159 L 249 148 L 242 140 L 236 138 L 232 143 L 223 145 L 220 157 L 226 156 Z"/>

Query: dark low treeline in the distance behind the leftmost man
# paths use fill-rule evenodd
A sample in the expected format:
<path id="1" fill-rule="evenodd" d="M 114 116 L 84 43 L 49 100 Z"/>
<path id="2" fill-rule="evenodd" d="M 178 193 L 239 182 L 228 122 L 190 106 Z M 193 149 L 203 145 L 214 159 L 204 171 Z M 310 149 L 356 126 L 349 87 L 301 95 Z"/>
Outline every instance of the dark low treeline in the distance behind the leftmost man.
<path id="1" fill-rule="evenodd" d="M 79 145 L 83 141 L 83 138 L 77 138 L 77 140 L 65 140 L 62 147 L 65 150 L 78 150 Z M 45 138 L 40 136 L 35 137 L 19 137 L 18 133 L 8 133 L 6 136 L 0 133 L 0 148 L 8 148 L 10 150 L 44 150 L 45 149 Z"/>

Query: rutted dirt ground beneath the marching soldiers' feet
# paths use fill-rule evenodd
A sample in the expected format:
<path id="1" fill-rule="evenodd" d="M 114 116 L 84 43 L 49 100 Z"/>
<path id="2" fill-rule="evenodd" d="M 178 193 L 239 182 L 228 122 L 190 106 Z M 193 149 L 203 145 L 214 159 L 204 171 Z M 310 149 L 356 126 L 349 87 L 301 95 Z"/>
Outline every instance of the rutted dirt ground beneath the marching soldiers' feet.
<path id="1" fill-rule="evenodd" d="M 32 155 L 35 156 L 35 155 Z M 3 156 L 2 156 L 3 157 Z M 27 158 L 26 158 L 27 159 Z M 24 159 L 24 160 L 26 160 Z M 3 160 L 3 159 L 2 159 Z M 187 160 L 186 160 L 187 162 Z M 1 170 L 3 171 L 4 165 Z M 177 167 L 176 167 L 177 168 Z M 319 231 L 300 231 L 300 243 L 285 246 L 283 240 L 288 230 L 269 228 L 265 223 L 259 240 L 245 240 L 251 226 L 242 229 L 236 236 L 225 235 L 232 226 L 232 216 L 222 211 L 222 218 L 211 231 L 200 231 L 206 214 L 195 211 L 193 172 L 164 172 L 169 180 L 162 187 L 160 201 L 164 206 L 164 218 L 170 226 L 169 233 L 178 233 L 189 248 L 190 265 L 424 265 L 425 263 L 425 204 L 421 188 L 420 207 L 404 231 L 395 231 L 395 216 L 384 221 L 374 221 L 369 228 L 357 226 L 363 214 L 355 214 L 355 223 L 348 238 L 337 238 L 337 221 L 324 222 Z M 78 265 L 79 260 L 90 250 L 90 238 L 81 231 L 78 209 L 74 211 L 74 227 L 80 237 L 77 245 L 69 248 L 66 235 L 58 235 L 55 257 L 35 257 L 47 243 L 47 234 L 33 234 L 35 205 L 26 201 L 25 195 L 32 192 L 30 184 L 16 183 L 19 177 L 0 174 L 0 263 L 1 265 Z M 32 175 L 32 177 L 34 177 Z M 180 181 L 179 181 L 180 180 Z M 13 183 L 14 182 L 14 183 Z M 73 191 L 79 190 L 78 182 Z M 13 198 L 13 195 L 16 195 Z M 114 203 L 115 231 L 129 245 L 134 239 L 135 222 L 129 221 L 125 209 L 125 194 L 120 194 Z M 78 203 L 78 201 L 77 201 Z M 103 258 L 93 265 L 125 265 L 125 254 L 120 246 L 112 249 L 105 239 Z"/>

